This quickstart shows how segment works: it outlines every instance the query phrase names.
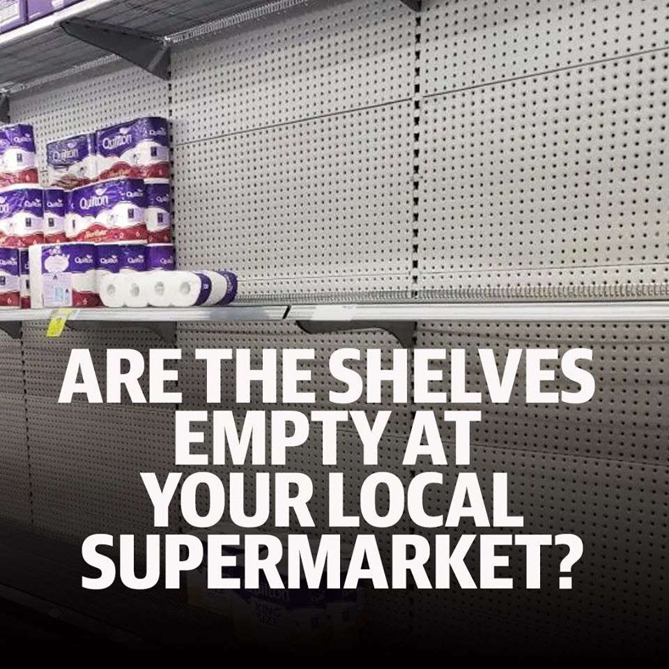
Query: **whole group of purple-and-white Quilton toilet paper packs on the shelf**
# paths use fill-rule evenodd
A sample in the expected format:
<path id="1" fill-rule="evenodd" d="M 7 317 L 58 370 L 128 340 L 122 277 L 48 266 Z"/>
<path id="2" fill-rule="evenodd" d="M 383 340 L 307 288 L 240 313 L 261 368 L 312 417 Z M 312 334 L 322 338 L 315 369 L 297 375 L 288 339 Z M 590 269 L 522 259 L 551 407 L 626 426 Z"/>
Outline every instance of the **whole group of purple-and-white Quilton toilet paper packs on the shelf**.
<path id="1" fill-rule="evenodd" d="M 38 184 L 29 125 L 0 128 L 0 307 L 213 307 L 226 270 L 178 271 L 169 124 L 139 118 L 47 144 Z"/>

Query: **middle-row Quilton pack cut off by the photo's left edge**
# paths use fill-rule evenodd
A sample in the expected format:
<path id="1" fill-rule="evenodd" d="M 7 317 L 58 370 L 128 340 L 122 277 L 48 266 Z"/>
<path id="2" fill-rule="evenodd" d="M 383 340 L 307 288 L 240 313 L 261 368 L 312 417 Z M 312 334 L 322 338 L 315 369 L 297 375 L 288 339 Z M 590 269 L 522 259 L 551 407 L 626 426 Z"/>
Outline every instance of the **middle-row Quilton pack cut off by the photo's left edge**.
<path id="1" fill-rule="evenodd" d="M 42 243 L 43 217 L 39 186 L 14 185 L 0 190 L 0 246 L 27 248 Z"/>

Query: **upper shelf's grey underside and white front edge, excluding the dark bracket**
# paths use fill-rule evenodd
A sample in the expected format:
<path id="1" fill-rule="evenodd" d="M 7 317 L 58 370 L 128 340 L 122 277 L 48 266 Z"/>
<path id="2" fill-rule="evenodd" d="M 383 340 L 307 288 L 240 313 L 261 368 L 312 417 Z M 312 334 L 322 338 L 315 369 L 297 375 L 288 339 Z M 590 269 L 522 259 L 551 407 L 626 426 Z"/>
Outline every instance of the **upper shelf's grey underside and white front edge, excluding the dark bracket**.
<path id="1" fill-rule="evenodd" d="M 243 22 L 304 1 L 82 0 L 0 35 L 0 90 L 14 92 L 48 81 L 55 75 L 110 59 L 112 49 L 93 46 L 80 37 L 69 35 L 61 27 L 63 22 L 84 20 L 105 24 L 131 35 L 134 32 L 148 33 L 169 44 L 189 31 L 194 31 L 192 36 L 206 26 L 213 31 L 216 22 L 224 17 L 235 17 L 236 22 Z"/>

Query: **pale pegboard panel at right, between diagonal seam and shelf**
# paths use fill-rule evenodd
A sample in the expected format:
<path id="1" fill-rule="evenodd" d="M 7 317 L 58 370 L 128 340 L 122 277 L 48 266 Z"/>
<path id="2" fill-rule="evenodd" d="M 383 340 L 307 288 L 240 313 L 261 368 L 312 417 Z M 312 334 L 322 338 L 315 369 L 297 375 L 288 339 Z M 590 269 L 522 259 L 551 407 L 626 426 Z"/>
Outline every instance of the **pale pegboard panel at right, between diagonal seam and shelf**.
<path id="1" fill-rule="evenodd" d="M 420 286 L 448 298 L 669 290 L 669 52 L 428 98 Z"/>

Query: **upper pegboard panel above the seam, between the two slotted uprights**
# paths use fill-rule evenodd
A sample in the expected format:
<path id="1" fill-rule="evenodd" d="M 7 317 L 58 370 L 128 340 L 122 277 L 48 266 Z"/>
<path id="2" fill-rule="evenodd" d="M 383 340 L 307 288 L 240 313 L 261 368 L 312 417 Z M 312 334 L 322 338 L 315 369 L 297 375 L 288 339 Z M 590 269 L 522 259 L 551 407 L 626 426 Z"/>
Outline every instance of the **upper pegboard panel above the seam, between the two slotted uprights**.
<path id="1" fill-rule="evenodd" d="M 316 0 L 186 43 L 172 63 L 176 144 L 410 100 L 414 42 L 401 2 Z"/>

